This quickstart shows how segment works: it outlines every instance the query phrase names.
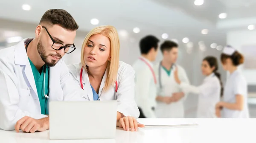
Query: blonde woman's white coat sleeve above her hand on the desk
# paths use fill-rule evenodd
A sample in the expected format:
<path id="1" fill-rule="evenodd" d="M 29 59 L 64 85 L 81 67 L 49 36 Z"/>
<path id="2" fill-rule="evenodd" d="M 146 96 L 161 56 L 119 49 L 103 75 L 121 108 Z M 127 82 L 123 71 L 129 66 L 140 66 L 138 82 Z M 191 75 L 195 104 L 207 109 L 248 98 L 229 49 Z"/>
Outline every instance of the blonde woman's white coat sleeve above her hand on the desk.
<path id="1" fill-rule="evenodd" d="M 119 71 L 117 79 L 117 111 L 125 116 L 139 118 L 140 112 L 134 99 L 134 74 L 135 71 L 129 65 Z"/>

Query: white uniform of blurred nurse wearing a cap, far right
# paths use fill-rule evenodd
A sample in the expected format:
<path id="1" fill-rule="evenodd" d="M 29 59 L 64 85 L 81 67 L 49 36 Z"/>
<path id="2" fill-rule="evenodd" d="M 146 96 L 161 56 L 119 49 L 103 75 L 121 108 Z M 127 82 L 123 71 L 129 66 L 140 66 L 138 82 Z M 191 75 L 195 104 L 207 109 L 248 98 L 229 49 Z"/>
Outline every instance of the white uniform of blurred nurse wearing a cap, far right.
<path id="1" fill-rule="evenodd" d="M 223 108 L 222 118 L 249 118 L 249 110 L 247 103 L 247 82 L 242 73 L 239 70 L 234 71 L 227 78 L 227 82 L 224 88 L 223 101 L 228 103 L 236 102 L 236 95 L 242 95 L 244 98 L 244 109 L 231 110 Z"/>

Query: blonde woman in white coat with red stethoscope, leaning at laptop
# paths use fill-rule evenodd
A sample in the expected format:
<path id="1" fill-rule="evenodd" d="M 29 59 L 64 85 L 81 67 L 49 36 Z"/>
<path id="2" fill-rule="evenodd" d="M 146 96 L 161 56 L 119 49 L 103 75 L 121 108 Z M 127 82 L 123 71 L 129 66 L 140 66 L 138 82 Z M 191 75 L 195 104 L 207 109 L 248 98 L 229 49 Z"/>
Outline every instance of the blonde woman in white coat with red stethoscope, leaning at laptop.
<path id="1" fill-rule="evenodd" d="M 68 67 L 90 101 L 117 101 L 117 126 L 137 131 L 139 109 L 134 100 L 134 70 L 119 62 L 119 36 L 110 25 L 93 28 L 84 38 L 81 62 Z"/>

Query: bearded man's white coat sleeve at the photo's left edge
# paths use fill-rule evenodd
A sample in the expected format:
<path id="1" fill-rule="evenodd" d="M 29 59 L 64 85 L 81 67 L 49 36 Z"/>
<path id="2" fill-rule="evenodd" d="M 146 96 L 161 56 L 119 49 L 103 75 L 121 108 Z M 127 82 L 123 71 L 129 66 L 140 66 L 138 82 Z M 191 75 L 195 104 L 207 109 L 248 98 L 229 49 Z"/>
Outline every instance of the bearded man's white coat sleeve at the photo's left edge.
<path id="1" fill-rule="evenodd" d="M 7 67 L 4 66 L 0 69 L 0 128 L 4 130 L 14 130 L 16 122 L 24 116 L 35 119 L 47 117 L 47 115 L 42 114 L 33 115 L 27 111 L 22 111 L 18 107 L 20 101 L 18 89 L 15 86 L 14 79 L 11 79 L 10 76 L 3 71 L 4 68 L 8 71 Z M 12 71 L 8 73 L 12 73 Z"/>

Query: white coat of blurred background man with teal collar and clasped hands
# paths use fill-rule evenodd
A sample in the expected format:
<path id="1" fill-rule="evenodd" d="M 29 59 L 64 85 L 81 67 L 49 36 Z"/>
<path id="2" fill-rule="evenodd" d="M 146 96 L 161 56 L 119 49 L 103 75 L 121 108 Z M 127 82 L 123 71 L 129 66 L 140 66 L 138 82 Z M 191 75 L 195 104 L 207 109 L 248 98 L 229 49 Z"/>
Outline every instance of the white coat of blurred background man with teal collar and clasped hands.
<path id="1" fill-rule="evenodd" d="M 157 75 L 157 95 L 172 96 L 173 93 L 179 92 L 183 92 L 185 95 L 179 101 L 172 102 L 171 104 L 157 101 L 157 107 L 155 110 L 157 118 L 184 118 L 184 101 L 186 99 L 187 93 L 179 87 L 179 84 L 176 83 L 174 79 L 174 71 L 176 68 L 178 68 L 178 75 L 180 80 L 189 84 L 189 79 L 186 75 L 186 72 L 183 67 L 175 64 L 175 66 L 172 67 L 171 75 L 168 76 L 162 67 L 160 67 L 161 73 L 159 73 L 159 67 L 160 64 L 158 63 L 154 68 Z M 161 74 L 162 87 L 160 87 L 159 74 Z"/>

